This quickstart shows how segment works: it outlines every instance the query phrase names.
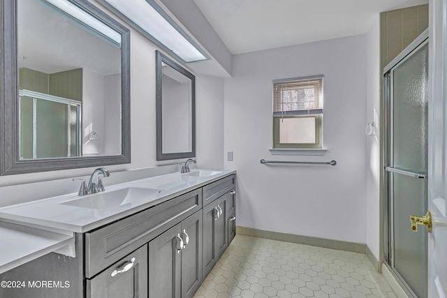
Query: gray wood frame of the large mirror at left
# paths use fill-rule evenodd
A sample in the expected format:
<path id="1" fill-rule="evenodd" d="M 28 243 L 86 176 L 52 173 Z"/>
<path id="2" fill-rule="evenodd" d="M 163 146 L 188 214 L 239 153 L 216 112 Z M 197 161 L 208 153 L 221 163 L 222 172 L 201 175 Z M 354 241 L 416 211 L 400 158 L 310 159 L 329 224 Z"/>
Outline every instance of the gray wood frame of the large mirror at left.
<path id="1" fill-rule="evenodd" d="M 66 0 L 101 20 L 122 36 L 122 154 L 20 160 L 17 65 L 17 0 L 0 0 L 0 176 L 131 162 L 130 31 L 86 0 Z"/>

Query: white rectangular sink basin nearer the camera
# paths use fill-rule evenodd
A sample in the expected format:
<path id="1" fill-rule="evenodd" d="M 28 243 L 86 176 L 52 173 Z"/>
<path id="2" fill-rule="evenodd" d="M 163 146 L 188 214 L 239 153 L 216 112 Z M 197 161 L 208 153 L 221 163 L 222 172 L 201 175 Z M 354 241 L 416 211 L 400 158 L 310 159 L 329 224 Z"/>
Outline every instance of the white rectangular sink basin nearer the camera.
<path id="1" fill-rule="evenodd" d="M 59 204 L 70 205 L 75 207 L 89 208 L 89 209 L 111 209 L 129 204 L 136 200 L 148 198 L 157 193 L 161 193 L 163 189 L 157 188 L 140 188 L 128 187 L 118 189 L 117 191 L 110 191 L 107 193 L 95 193 L 93 195 L 85 195 L 78 197 L 75 200 L 61 202 Z"/>

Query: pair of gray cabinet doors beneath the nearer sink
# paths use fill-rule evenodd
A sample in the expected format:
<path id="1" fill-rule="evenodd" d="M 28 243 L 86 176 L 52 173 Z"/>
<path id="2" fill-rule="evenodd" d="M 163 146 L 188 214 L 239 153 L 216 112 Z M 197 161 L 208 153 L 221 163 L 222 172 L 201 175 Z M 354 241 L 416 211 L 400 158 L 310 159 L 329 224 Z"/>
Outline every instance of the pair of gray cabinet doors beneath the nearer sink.
<path id="1" fill-rule="evenodd" d="M 149 242 L 149 298 L 190 298 L 202 283 L 202 211 Z"/>

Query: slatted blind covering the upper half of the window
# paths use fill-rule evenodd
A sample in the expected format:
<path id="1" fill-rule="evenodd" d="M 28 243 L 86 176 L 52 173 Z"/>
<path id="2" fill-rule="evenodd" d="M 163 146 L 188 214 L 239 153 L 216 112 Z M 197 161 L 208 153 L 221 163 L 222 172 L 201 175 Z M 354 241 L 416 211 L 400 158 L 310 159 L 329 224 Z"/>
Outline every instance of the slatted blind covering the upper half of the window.
<path id="1" fill-rule="evenodd" d="M 273 116 L 323 114 L 323 75 L 273 81 Z"/>

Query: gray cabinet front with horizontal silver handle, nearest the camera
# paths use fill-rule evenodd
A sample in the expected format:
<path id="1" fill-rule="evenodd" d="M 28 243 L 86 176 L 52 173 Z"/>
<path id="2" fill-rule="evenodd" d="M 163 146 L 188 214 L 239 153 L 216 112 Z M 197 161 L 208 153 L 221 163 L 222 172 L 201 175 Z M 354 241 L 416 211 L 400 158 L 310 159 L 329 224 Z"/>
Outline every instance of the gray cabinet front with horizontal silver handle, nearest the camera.
<path id="1" fill-rule="evenodd" d="M 87 298 L 147 297 L 147 244 L 87 279 Z"/>

